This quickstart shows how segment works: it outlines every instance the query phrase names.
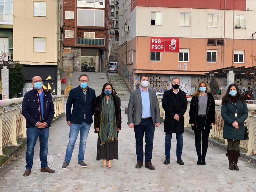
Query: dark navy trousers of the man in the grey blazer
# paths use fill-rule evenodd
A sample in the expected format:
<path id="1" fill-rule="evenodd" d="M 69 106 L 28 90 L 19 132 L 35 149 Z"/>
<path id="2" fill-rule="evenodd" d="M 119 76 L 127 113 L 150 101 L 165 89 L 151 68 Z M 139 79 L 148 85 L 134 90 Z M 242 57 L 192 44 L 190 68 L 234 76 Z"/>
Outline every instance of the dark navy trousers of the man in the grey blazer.
<path id="1" fill-rule="evenodd" d="M 145 162 L 151 162 L 155 132 L 155 125 L 153 124 L 152 119 L 141 120 L 139 125 L 134 126 L 134 132 L 137 161 L 143 162 L 143 137 L 145 133 Z"/>

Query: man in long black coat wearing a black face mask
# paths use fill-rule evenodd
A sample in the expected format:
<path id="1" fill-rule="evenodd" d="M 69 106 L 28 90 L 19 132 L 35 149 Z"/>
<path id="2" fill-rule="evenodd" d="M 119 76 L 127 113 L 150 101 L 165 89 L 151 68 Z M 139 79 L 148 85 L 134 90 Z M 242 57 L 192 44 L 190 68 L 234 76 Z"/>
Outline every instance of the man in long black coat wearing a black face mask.
<path id="1" fill-rule="evenodd" d="M 183 137 L 184 132 L 184 113 L 188 107 L 188 101 L 186 99 L 186 93 L 179 89 L 180 78 L 173 77 L 172 79 L 172 89 L 165 91 L 162 99 L 162 106 L 165 110 L 164 119 L 164 132 L 165 132 L 165 161 L 164 164 L 170 163 L 171 157 L 171 140 L 172 134 L 176 134 L 177 146 L 176 146 L 176 156 L 177 163 L 184 165 L 182 161 L 181 154 L 183 148 Z"/>

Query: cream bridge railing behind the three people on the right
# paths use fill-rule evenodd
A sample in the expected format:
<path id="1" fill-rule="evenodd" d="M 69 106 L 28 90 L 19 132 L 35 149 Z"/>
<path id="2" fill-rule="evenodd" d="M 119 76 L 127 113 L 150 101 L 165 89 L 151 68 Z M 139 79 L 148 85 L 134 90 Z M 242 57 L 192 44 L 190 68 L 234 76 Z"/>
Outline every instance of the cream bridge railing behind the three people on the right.
<path id="1" fill-rule="evenodd" d="M 184 125 L 185 127 L 191 127 L 189 124 L 189 108 L 190 108 L 190 102 L 191 99 L 188 99 L 188 109 L 186 110 L 184 114 Z M 225 141 L 225 144 L 227 144 L 227 139 L 223 139 L 222 133 L 223 133 L 223 126 L 224 121 L 221 117 L 221 101 L 215 101 L 216 107 L 216 121 L 215 125 L 213 126 L 209 137 L 211 138 L 217 138 Z M 161 112 L 161 118 L 164 119 L 165 111 L 162 108 L 162 101 L 159 101 L 159 107 Z M 240 142 L 240 147 L 247 150 L 247 154 L 256 154 L 256 116 L 253 114 L 256 111 L 256 104 L 247 104 L 248 107 L 248 118 L 246 119 L 246 126 L 249 130 L 249 140 L 243 140 Z"/>

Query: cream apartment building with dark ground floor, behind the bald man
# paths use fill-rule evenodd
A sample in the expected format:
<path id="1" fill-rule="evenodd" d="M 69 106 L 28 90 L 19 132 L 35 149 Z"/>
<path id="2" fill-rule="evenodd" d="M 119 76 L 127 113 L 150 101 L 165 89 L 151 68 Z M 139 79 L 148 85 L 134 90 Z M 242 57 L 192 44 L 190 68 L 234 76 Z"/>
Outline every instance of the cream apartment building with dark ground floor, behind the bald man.
<path id="1" fill-rule="evenodd" d="M 42 77 L 45 89 L 61 94 L 61 10 L 59 0 L 13 1 L 13 62 L 24 66 L 23 95 L 33 89 L 31 78 L 35 75 Z"/>

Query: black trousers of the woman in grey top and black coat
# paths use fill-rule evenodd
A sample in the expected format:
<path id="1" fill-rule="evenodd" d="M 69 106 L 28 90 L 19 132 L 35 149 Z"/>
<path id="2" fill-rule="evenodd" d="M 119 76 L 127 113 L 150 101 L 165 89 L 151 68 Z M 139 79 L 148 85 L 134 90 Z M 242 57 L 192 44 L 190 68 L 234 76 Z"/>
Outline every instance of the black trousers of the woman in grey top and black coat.
<path id="1" fill-rule="evenodd" d="M 208 139 L 210 134 L 210 129 L 204 129 L 206 116 L 197 116 L 196 117 L 196 126 L 195 130 L 195 149 L 198 158 L 204 159 L 208 149 Z M 201 153 L 201 138 L 202 138 L 202 153 Z"/>

